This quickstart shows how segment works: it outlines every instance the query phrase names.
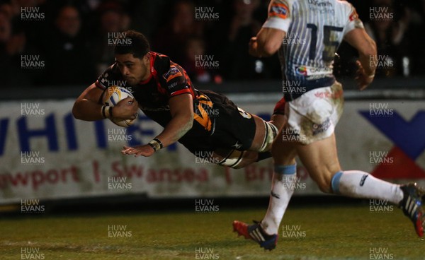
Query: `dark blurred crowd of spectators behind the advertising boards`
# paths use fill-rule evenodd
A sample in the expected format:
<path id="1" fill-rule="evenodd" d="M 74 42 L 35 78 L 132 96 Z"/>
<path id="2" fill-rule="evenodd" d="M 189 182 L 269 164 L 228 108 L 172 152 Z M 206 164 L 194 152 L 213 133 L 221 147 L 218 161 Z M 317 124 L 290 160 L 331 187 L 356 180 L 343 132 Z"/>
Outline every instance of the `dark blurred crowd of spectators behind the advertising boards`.
<path id="1" fill-rule="evenodd" d="M 378 77 L 424 74 L 425 0 L 353 5 L 378 54 L 392 61 L 378 69 Z M 89 85 L 114 62 L 111 34 L 129 29 L 145 34 L 152 51 L 181 64 L 195 82 L 280 79 L 276 55 L 248 54 L 249 39 L 261 28 L 267 7 L 268 0 L 0 0 L 1 83 Z M 386 13 L 383 19 L 372 18 L 377 10 Z M 31 57 L 43 62 L 23 67 L 23 59 Z M 199 57 L 208 57 L 213 66 L 198 66 Z M 343 43 L 336 76 L 353 76 L 355 60 L 355 50 Z"/>

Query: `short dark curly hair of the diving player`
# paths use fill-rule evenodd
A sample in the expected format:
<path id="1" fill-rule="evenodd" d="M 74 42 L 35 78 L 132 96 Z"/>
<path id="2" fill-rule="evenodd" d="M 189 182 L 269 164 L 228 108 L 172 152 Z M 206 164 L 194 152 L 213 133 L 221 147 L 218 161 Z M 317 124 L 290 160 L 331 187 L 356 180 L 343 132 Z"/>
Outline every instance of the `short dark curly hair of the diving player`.
<path id="1" fill-rule="evenodd" d="M 141 59 L 150 52 L 149 42 L 145 35 L 135 30 L 126 30 L 121 35 L 121 41 L 115 45 L 115 54 L 132 54 L 135 58 Z"/>

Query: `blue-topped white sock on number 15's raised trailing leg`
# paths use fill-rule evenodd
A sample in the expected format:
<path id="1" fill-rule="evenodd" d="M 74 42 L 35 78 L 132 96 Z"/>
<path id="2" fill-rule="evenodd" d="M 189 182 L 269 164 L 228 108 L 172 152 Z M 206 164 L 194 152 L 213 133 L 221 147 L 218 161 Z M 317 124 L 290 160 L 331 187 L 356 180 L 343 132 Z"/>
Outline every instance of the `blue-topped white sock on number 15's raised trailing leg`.
<path id="1" fill-rule="evenodd" d="M 403 191 L 398 184 L 382 181 L 358 170 L 336 172 L 331 186 L 334 194 L 354 198 L 383 199 L 396 205 L 403 199 Z"/>

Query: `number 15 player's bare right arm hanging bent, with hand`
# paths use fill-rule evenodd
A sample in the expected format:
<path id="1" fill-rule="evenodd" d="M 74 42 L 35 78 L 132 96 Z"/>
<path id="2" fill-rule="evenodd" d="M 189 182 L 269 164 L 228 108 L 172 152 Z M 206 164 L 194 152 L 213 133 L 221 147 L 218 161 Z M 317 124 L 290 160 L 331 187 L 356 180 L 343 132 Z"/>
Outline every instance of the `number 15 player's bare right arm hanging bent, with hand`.
<path id="1" fill-rule="evenodd" d="M 344 40 L 358 51 L 356 81 L 358 81 L 358 89 L 363 90 L 372 83 L 375 77 L 376 43 L 363 28 L 351 30 L 345 35 Z"/>

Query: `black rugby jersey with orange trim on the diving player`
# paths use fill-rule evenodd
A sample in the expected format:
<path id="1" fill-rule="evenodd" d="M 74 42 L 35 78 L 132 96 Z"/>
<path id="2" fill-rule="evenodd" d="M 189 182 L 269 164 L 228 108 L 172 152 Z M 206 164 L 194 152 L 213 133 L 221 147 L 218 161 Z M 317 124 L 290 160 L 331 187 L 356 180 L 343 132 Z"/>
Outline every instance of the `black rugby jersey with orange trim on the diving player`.
<path id="1" fill-rule="evenodd" d="M 194 111 L 199 111 L 200 105 L 202 107 L 208 105 L 212 108 L 212 102 L 206 95 L 193 88 L 191 79 L 179 64 L 163 54 L 157 52 L 149 52 L 149 54 L 151 55 L 151 76 L 146 81 L 132 86 L 119 85 L 125 81 L 118 69 L 118 64 L 115 63 L 98 77 L 96 86 L 102 90 L 112 85 L 128 88 L 147 117 L 163 127 L 171 120 L 169 99 L 176 95 L 185 93 L 192 95 Z M 213 130 L 214 123 L 208 115 L 196 113 L 194 119 L 193 128 L 187 134 L 203 136 Z"/>

